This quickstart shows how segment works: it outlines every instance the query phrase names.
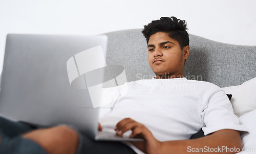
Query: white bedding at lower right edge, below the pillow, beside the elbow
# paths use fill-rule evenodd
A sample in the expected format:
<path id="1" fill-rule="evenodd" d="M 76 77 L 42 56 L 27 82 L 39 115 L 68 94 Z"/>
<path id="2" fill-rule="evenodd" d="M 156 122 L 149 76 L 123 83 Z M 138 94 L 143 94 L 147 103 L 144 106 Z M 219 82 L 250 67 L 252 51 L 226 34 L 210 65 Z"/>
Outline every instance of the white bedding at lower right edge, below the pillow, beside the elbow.
<path id="1" fill-rule="evenodd" d="M 243 124 L 249 134 L 242 135 L 243 152 L 256 153 L 256 110 L 246 113 L 239 117 L 240 123 Z"/>

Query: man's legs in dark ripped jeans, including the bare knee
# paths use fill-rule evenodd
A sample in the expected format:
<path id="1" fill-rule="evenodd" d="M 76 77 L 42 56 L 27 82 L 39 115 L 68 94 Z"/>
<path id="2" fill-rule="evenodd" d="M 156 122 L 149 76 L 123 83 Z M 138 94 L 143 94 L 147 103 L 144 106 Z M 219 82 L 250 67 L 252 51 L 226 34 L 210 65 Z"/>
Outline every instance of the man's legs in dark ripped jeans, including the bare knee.
<path id="1" fill-rule="evenodd" d="M 20 122 L 12 122 L 2 119 L 1 123 L 0 117 L 0 129 L 3 130 L 3 127 L 7 129 L 7 131 L 5 130 L 4 132 L 7 133 L 8 141 L 0 143 L 0 151 L 17 151 L 16 153 L 26 154 L 41 154 L 46 152 L 61 154 L 75 152 L 81 154 L 135 153 L 129 146 L 120 142 L 94 141 L 85 135 L 81 135 L 75 128 L 67 125 L 33 130 L 30 127 L 27 127 L 26 124 Z M 8 131 L 10 128 L 13 129 L 13 131 Z M 25 134 L 21 136 L 24 132 Z"/>

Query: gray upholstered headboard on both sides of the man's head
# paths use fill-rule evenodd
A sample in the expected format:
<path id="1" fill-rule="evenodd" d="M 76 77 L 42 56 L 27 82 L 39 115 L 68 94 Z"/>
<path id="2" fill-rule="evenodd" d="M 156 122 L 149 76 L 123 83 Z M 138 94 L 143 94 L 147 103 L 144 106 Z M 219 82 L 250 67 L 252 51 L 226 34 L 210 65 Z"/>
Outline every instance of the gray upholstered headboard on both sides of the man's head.
<path id="1" fill-rule="evenodd" d="M 124 66 L 128 82 L 154 76 L 147 62 L 147 44 L 141 29 L 106 35 L 109 37 L 108 65 Z M 189 39 L 191 50 L 185 64 L 187 79 L 227 87 L 256 77 L 256 46 L 225 44 L 195 35 L 189 35 Z"/>

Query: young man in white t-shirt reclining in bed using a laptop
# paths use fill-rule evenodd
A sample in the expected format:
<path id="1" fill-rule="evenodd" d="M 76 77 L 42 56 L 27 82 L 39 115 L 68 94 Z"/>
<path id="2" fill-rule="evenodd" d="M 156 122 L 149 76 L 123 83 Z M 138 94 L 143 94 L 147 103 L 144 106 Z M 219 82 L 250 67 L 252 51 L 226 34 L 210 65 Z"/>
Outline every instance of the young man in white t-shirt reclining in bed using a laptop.
<path id="1" fill-rule="evenodd" d="M 70 126 L 31 131 L 24 123 L 1 118 L 0 150 L 26 151 L 28 145 L 38 153 L 194 153 L 197 148 L 204 149 L 199 153 L 228 153 L 222 147 L 241 148 L 239 131 L 246 129 L 233 114 L 226 94 L 214 84 L 184 78 L 190 52 L 186 22 L 162 17 L 145 25 L 142 33 L 156 77 L 126 83 L 125 93 L 121 90 L 122 97 L 112 103 L 112 112 L 99 122 L 117 135 L 128 131 L 130 137 L 145 141 L 95 142 Z M 10 133 L 3 124 L 19 129 Z M 205 137 L 188 140 L 202 127 Z"/>

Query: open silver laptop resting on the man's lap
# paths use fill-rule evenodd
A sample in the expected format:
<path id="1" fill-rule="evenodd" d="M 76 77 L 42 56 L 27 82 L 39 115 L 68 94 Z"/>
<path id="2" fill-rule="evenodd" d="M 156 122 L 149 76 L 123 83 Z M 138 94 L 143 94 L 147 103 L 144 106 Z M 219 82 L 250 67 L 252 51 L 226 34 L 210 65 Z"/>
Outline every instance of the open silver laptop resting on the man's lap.
<path id="1" fill-rule="evenodd" d="M 141 141 L 98 133 L 98 100 L 92 99 L 92 91 L 86 83 L 93 87 L 103 82 L 104 69 L 100 67 L 105 66 L 105 62 L 96 65 L 94 61 L 104 59 L 107 44 L 108 38 L 104 35 L 9 34 L 0 115 L 44 126 L 70 123 L 96 140 Z M 83 67 L 79 68 L 80 65 Z M 97 79 L 88 82 L 92 79 L 84 74 L 95 70 L 98 70 Z"/>

